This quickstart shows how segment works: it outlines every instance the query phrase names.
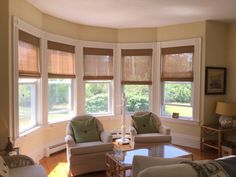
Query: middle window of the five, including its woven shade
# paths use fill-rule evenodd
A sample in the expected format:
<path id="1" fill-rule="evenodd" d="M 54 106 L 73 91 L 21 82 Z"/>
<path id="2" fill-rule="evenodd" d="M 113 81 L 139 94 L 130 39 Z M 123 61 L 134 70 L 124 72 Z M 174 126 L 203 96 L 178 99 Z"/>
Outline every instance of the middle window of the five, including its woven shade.
<path id="1" fill-rule="evenodd" d="M 113 50 L 84 50 L 85 112 L 112 113 Z"/>

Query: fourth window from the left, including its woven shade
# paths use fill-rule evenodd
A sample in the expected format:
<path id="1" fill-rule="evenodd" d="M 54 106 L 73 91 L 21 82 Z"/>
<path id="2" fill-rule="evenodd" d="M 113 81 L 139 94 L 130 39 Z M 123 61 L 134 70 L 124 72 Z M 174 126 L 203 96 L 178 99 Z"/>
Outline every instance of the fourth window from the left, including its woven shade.
<path id="1" fill-rule="evenodd" d="M 122 49 L 122 85 L 128 112 L 148 111 L 152 49 Z"/>

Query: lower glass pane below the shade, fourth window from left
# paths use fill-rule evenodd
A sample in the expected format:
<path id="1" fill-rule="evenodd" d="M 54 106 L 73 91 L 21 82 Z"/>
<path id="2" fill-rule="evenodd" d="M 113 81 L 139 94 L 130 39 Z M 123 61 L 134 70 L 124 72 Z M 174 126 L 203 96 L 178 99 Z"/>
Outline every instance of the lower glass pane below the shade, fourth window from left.
<path id="1" fill-rule="evenodd" d="M 126 111 L 149 110 L 149 86 L 148 85 L 124 85 L 126 96 Z"/>

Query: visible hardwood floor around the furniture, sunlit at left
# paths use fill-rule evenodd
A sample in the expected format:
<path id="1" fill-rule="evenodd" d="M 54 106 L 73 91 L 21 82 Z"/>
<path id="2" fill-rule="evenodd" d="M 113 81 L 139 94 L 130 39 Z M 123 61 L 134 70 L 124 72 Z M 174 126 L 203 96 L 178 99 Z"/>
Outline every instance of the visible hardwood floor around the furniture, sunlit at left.
<path id="1" fill-rule="evenodd" d="M 216 151 L 201 152 L 199 149 L 179 146 L 193 153 L 194 160 L 215 159 L 217 158 Z M 125 148 L 126 149 L 126 148 Z M 66 160 L 66 151 L 61 151 L 50 157 L 45 157 L 40 160 L 40 164 L 46 170 L 48 177 L 67 177 L 68 165 Z M 90 173 L 79 177 L 105 177 L 105 172 Z"/>

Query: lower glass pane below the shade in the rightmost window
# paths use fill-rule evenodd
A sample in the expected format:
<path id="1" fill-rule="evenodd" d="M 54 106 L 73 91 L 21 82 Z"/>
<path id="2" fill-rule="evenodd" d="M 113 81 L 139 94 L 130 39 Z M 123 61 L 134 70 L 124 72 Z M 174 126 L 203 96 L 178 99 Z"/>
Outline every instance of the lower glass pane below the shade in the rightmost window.
<path id="1" fill-rule="evenodd" d="M 179 113 L 180 117 L 192 117 L 191 82 L 164 82 L 164 115 Z"/>

